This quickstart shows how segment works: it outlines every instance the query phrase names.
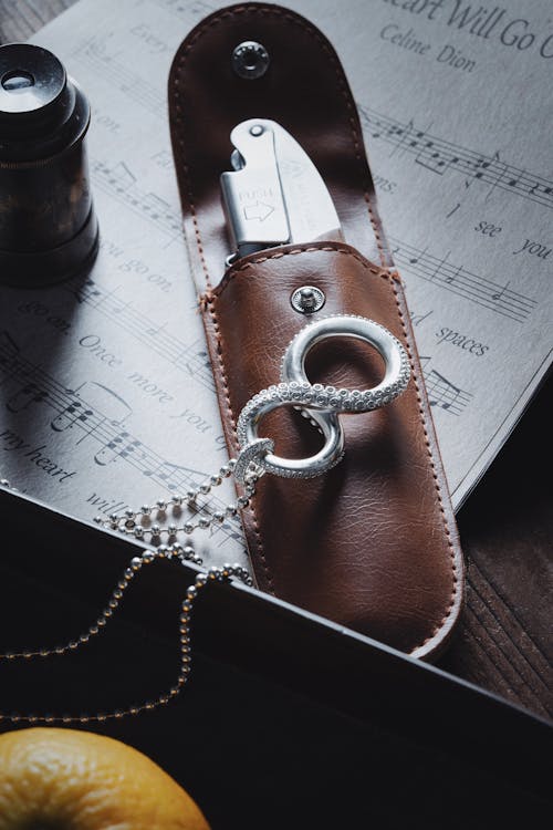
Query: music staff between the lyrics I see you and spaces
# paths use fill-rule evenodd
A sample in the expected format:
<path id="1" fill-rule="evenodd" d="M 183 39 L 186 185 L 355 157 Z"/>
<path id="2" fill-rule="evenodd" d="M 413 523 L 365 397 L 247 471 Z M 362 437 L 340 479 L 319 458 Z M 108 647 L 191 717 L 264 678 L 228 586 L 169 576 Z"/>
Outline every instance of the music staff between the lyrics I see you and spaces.
<path id="1" fill-rule="evenodd" d="M 501 286 L 472 273 L 463 266 L 452 264 L 449 262 L 449 252 L 440 258 L 429 253 L 426 248 L 420 250 L 395 237 L 389 237 L 389 242 L 396 263 L 404 266 L 407 272 L 434 282 L 501 317 L 523 323 L 538 307 L 536 300 L 509 288 L 509 282 Z"/>

